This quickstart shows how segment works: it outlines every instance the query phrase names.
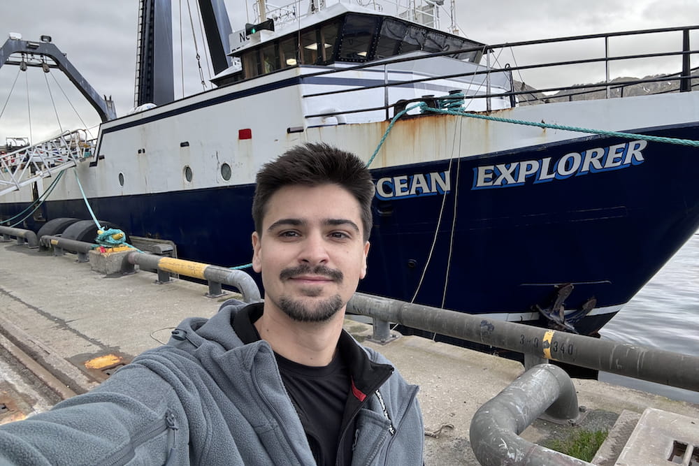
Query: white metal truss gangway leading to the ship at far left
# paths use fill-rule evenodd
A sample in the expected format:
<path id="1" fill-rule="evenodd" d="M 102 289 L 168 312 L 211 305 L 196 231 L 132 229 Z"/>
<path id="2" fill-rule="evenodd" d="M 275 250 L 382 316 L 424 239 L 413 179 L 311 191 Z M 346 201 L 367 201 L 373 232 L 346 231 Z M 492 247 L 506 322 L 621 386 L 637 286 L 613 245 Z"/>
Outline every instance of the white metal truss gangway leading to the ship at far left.
<path id="1" fill-rule="evenodd" d="M 57 175 L 90 159 L 94 139 L 85 129 L 66 131 L 59 136 L 0 156 L 0 197 L 27 184 Z"/>

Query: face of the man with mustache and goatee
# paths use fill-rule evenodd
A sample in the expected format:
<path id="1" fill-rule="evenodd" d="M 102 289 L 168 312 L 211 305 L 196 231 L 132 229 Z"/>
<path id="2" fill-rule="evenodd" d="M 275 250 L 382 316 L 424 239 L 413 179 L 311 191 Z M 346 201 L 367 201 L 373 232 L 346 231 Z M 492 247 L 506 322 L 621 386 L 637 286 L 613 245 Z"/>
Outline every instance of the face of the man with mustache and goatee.
<path id="1" fill-rule="evenodd" d="M 269 199 L 252 266 L 266 306 L 296 321 L 326 321 L 344 309 L 366 275 L 359 202 L 338 184 L 282 187 Z"/>

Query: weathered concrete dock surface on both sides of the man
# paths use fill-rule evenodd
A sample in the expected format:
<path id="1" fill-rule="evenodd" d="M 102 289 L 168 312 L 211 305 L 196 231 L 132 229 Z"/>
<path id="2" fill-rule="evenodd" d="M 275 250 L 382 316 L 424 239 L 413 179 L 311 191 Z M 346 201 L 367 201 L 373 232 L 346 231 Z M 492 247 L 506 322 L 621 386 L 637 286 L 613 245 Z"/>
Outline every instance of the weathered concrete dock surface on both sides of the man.
<path id="1" fill-rule="evenodd" d="M 150 272 L 107 278 L 75 259 L 72 254 L 52 256 L 15 242 L 0 242 L 0 349 L 9 351 L 8 345 L 29 349 L 32 358 L 49 366 L 44 367 L 48 372 L 69 381 L 63 387 L 68 395 L 99 384 L 108 370 L 121 363 L 100 374 L 99 367 L 85 367 L 88 361 L 113 355 L 127 363 L 145 349 L 166 342 L 170 330 L 185 317 L 211 316 L 222 301 L 233 297 L 207 298 L 206 285 L 185 280 L 154 284 L 156 276 Z M 347 320 L 345 328 L 359 340 L 370 335 L 370 326 L 356 321 Z M 468 440 L 471 418 L 524 367 L 421 337 L 400 337 L 384 346 L 364 343 L 382 352 L 405 379 L 421 387 L 426 464 L 477 465 Z M 574 384 L 579 405 L 586 407 L 581 425 L 538 420 L 521 436 L 541 444 L 574 429 L 612 430 L 619 420 L 610 435 L 613 442 L 606 447 L 610 452 L 595 463 L 614 465 L 645 409 L 699 419 L 699 405 L 600 381 L 575 379 Z M 7 418 L 0 412 L 3 421 Z"/>

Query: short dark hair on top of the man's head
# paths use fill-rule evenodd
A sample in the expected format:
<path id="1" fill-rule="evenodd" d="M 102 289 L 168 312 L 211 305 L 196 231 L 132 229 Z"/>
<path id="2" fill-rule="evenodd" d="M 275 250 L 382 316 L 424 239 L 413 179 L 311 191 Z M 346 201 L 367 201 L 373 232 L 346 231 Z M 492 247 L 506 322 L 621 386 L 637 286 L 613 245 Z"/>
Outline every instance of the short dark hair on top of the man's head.
<path id="1" fill-rule="evenodd" d="M 257 173 L 256 182 L 252 219 L 258 235 L 262 235 L 262 217 L 269 198 L 278 189 L 294 184 L 309 187 L 338 184 L 359 202 L 363 237 L 365 241 L 369 239 L 374 183 L 366 163 L 352 152 L 325 143 L 297 145 L 278 159 L 265 163 Z"/>

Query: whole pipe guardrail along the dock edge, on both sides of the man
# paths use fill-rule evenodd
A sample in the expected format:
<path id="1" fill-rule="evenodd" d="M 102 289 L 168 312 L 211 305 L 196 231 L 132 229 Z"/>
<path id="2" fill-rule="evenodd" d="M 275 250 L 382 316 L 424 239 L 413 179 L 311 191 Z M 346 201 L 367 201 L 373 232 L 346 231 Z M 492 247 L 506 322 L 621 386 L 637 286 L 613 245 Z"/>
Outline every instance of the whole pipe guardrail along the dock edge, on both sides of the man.
<path id="1" fill-rule="evenodd" d="M 14 235 L 20 244 L 24 244 L 26 240 L 29 247 L 38 247 L 33 231 L 0 226 L 0 234 L 6 240 L 9 235 Z M 60 237 L 44 236 L 41 239 L 46 246 L 59 247 L 71 252 L 87 254 L 93 247 L 87 242 Z M 170 274 L 176 273 L 207 280 L 208 296 L 211 297 L 221 296 L 222 284 L 226 284 L 238 289 L 247 303 L 261 300 L 257 284 L 250 275 L 240 270 L 130 252 L 127 260 L 122 263 L 122 272 L 133 272 L 134 265 L 156 269 L 160 283 L 170 282 Z M 517 351 L 534 358 L 603 370 L 691 391 L 699 389 L 699 356 L 486 319 L 477 314 L 465 314 L 364 293 L 354 293 L 347 303 L 347 312 L 372 317 L 373 340 L 378 342 L 391 340 L 389 323 L 396 322 L 440 335 Z"/>

